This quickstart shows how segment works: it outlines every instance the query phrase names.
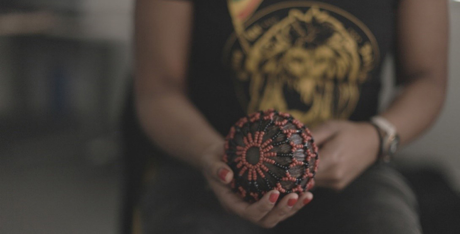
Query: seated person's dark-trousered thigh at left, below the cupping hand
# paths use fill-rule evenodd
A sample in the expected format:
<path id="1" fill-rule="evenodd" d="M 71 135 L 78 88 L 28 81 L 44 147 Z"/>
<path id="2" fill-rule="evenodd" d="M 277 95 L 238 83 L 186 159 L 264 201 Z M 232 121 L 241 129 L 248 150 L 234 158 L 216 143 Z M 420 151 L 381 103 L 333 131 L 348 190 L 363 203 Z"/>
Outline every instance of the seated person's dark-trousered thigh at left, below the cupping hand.
<path id="1" fill-rule="evenodd" d="M 141 200 L 144 233 L 267 233 L 224 211 L 200 173 L 166 165 Z"/>

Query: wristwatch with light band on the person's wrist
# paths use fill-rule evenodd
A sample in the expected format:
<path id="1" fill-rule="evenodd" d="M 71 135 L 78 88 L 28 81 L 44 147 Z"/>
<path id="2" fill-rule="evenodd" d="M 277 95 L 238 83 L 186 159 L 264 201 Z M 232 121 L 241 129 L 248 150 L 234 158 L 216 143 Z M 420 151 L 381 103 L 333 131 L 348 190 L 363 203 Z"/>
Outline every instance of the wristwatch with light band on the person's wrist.
<path id="1" fill-rule="evenodd" d="M 372 117 L 371 123 L 377 128 L 377 132 L 379 133 L 379 158 L 384 162 L 389 162 L 399 146 L 399 135 L 396 127 L 381 116 Z"/>

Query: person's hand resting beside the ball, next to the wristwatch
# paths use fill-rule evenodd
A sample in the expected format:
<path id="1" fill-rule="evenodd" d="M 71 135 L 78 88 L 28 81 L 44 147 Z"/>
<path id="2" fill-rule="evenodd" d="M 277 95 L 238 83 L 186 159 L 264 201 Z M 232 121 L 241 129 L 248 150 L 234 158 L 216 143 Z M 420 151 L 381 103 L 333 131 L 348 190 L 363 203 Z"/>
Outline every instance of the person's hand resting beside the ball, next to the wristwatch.
<path id="1" fill-rule="evenodd" d="M 377 160 L 379 137 L 370 123 L 328 121 L 311 133 L 319 147 L 319 187 L 342 190 Z"/>

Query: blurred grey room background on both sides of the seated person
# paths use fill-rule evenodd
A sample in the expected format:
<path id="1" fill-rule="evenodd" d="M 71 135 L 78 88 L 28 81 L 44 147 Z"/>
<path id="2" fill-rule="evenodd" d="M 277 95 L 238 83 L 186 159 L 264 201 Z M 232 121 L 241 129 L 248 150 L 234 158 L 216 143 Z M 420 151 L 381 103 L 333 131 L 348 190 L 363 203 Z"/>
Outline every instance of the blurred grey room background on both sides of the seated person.
<path id="1" fill-rule="evenodd" d="M 118 232 L 120 121 L 132 74 L 133 4 L 0 0 L 0 233 Z M 455 219 L 460 215 L 460 3 L 449 4 L 446 105 L 430 131 L 399 152 L 396 163 L 418 193 L 422 212 Z M 393 93 L 393 70 L 389 58 L 382 108 Z M 430 218 L 422 214 L 422 221 Z M 458 219 L 443 220 L 427 233 L 442 225 L 451 228 L 437 233 L 460 233 Z"/>

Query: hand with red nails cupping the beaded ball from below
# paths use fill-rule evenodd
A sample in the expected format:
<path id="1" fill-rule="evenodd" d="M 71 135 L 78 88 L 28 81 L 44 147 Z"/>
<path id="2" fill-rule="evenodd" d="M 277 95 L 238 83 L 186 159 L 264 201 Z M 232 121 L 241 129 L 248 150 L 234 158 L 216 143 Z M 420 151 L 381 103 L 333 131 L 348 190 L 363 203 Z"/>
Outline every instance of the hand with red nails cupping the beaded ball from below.
<path id="1" fill-rule="evenodd" d="M 202 171 L 225 210 L 261 227 L 271 228 L 294 215 L 313 199 L 310 192 L 305 192 L 301 197 L 290 193 L 275 205 L 280 192 L 271 190 L 255 203 L 244 201 L 228 185 L 232 181 L 233 171 L 221 161 L 222 152 L 223 143 L 206 150 L 203 154 Z"/>

